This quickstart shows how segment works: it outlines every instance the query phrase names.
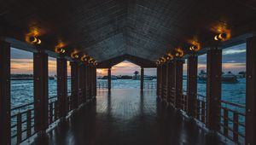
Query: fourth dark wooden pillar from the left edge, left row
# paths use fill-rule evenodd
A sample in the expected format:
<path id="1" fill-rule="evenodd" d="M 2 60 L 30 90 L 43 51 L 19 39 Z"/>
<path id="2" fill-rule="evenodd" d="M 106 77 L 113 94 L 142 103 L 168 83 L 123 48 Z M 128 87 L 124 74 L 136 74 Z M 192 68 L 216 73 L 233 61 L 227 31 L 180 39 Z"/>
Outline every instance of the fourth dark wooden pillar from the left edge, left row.
<path id="1" fill-rule="evenodd" d="M 79 107 L 79 64 L 76 61 L 71 62 L 71 90 L 73 108 Z"/>

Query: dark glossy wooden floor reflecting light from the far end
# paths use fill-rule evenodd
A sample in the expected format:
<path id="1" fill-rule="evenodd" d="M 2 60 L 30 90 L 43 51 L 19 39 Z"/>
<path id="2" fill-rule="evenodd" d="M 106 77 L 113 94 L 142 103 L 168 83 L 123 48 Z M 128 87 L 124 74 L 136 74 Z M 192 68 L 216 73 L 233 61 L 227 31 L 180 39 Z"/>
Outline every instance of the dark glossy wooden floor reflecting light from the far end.
<path id="1" fill-rule="evenodd" d="M 154 90 L 99 90 L 91 103 L 34 144 L 221 144 L 156 101 Z"/>

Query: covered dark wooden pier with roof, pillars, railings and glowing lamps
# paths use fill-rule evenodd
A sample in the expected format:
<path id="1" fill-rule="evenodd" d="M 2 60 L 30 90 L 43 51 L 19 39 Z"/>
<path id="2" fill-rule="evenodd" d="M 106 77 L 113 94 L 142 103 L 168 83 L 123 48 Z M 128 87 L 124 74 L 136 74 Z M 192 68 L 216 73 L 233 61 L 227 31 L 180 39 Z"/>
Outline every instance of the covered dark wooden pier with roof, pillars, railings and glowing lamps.
<path id="1" fill-rule="evenodd" d="M 0 144 L 254 145 L 255 18 L 252 0 L 4 0 Z M 223 50 L 237 44 L 246 44 L 246 104 L 222 99 Z M 20 106 L 10 101 L 11 48 L 33 54 L 33 102 Z M 197 92 L 200 55 L 207 55 L 205 96 Z M 49 96 L 49 56 L 56 96 Z M 122 61 L 140 67 L 139 89 L 113 89 L 112 68 Z M 102 84 L 101 68 L 108 69 Z M 156 69 L 156 84 L 143 79 L 147 68 Z"/>

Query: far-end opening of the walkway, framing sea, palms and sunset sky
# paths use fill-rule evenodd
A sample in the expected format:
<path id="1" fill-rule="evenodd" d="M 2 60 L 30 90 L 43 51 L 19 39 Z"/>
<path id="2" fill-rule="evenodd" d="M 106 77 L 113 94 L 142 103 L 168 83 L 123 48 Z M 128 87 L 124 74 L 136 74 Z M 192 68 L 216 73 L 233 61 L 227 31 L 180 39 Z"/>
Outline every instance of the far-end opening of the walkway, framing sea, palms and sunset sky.
<path id="1" fill-rule="evenodd" d="M 143 68 L 144 89 L 154 89 L 156 83 L 156 69 Z M 142 67 L 123 61 L 111 67 L 111 89 L 140 89 Z M 108 89 L 108 68 L 97 69 L 97 88 Z"/>

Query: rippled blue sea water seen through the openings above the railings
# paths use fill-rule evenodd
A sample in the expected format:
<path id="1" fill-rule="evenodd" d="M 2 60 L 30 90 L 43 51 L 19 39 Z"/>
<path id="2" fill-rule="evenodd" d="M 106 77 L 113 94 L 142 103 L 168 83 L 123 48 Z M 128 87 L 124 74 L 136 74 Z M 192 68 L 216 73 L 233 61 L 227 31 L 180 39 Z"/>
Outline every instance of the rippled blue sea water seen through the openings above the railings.
<path id="1" fill-rule="evenodd" d="M 98 81 L 107 81 L 98 79 Z M 153 80 L 156 82 L 156 80 Z M 183 79 L 183 90 L 187 90 L 187 80 Z M 49 97 L 56 96 L 57 82 L 49 80 Z M 206 96 L 207 84 L 197 84 L 198 94 Z M 112 80 L 113 89 L 140 88 L 140 80 L 117 79 Z M 67 91 L 71 92 L 71 80 L 67 79 Z M 238 78 L 236 84 L 222 84 L 222 99 L 245 105 L 246 79 Z M 12 80 L 11 81 L 11 107 L 24 105 L 33 101 L 33 80 Z"/>

